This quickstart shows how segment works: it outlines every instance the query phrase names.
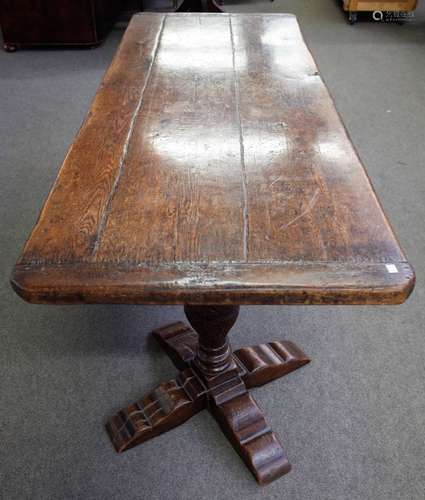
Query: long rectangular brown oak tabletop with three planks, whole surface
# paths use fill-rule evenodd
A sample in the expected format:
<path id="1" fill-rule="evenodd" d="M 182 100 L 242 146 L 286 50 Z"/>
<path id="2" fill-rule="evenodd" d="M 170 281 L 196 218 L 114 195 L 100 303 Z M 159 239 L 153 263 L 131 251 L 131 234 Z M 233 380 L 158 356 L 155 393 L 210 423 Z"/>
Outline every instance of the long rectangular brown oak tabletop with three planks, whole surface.
<path id="1" fill-rule="evenodd" d="M 12 275 L 39 303 L 391 304 L 413 283 L 286 14 L 133 17 Z"/>

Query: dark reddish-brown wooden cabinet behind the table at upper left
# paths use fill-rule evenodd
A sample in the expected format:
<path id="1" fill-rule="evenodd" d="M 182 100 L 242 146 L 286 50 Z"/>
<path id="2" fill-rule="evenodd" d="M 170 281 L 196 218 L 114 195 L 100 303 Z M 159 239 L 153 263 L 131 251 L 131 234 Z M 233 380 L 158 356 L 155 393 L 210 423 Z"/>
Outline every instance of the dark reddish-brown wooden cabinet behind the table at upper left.
<path id="1" fill-rule="evenodd" d="M 0 0 L 4 46 L 96 45 L 119 11 L 117 0 Z"/>

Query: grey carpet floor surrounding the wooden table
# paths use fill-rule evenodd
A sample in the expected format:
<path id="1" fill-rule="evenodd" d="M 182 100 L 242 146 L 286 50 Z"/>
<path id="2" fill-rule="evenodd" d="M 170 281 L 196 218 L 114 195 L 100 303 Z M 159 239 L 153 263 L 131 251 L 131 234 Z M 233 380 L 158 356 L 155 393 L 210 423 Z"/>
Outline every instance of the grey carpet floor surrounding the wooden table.
<path id="1" fill-rule="evenodd" d="M 0 496 L 12 499 L 425 498 L 425 9 L 346 24 L 336 0 L 233 3 L 293 12 L 417 287 L 398 307 L 243 308 L 234 346 L 299 343 L 313 362 L 254 391 L 293 470 L 260 488 L 213 419 L 123 455 L 103 423 L 175 373 L 148 332 L 178 307 L 34 306 L 8 277 L 122 36 L 96 50 L 0 52 Z"/>

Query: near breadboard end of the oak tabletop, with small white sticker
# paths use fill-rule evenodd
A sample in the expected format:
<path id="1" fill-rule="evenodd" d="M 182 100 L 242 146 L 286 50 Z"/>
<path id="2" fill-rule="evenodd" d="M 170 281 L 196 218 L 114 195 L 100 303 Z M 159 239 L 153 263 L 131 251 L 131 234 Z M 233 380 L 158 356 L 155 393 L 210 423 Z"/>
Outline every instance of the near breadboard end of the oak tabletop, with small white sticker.
<path id="1" fill-rule="evenodd" d="M 388 265 L 398 271 L 392 274 Z M 311 276 L 317 285 L 308 284 Z M 10 282 L 34 304 L 396 305 L 411 294 L 415 272 L 408 262 L 187 263 L 186 268 L 18 263 Z"/>

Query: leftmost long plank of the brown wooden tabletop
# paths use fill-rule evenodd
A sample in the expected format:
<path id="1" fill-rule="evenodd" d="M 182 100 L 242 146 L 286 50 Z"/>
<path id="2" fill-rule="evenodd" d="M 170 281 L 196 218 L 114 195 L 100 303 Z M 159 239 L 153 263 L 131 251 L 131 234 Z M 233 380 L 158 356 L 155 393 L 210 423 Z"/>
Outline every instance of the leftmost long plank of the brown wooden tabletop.
<path id="1" fill-rule="evenodd" d="M 127 30 L 25 246 L 26 261 L 84 261 L 95 252 L 163 21 L 137 16 Z"/>

